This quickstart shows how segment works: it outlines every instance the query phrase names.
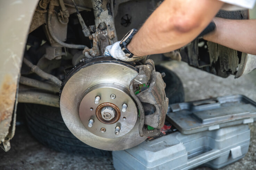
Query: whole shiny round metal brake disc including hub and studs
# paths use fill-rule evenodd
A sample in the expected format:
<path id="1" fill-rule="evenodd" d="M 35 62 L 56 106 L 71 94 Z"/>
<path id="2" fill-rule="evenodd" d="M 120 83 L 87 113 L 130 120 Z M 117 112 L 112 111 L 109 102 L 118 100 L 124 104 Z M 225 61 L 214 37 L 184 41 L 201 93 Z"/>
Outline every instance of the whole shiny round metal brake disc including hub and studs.
<path id="1" fill-rule="evenodd" d="M 143 142 L 137 104 L 129 91 L 137 75 L 135 67 L 112 57 L 76 65 L 61 86 L 60 111 L 68 129 L 102 150 L 124 150 Z"/>

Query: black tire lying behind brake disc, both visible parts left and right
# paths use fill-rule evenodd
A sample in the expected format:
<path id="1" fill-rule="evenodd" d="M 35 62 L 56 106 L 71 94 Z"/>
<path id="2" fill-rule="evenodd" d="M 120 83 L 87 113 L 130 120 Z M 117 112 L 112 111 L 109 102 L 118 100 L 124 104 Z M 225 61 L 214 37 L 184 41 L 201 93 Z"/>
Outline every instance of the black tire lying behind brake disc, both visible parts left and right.
<path id="1" fill-rule="evenodd" d="M 169 104 L 184 101 L 182 82 L 177 75 L 157 65 L 156 71 L 165 72 L 166 97 Z M 111 155 L 110 151 L 93 148 L 77 139 L 65 125 L 60 109 L 38 104 L 24 104 L 26 121 L 32 135 L 42 144 L 60 151 L 90 156 Z"/>

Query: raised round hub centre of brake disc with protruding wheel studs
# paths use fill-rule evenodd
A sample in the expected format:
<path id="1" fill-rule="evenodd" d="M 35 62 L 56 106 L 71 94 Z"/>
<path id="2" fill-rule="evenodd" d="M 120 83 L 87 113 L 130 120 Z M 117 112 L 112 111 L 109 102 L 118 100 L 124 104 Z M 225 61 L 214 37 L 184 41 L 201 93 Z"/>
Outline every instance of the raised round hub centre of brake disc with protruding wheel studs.
<path id="1" fill-rule="evenodd" d="M 98 83 L 84 92 L 79 116 L 86 129 L 104 138 L 129 133 L 138 119 L 129 90 L 115 83 Z"/>

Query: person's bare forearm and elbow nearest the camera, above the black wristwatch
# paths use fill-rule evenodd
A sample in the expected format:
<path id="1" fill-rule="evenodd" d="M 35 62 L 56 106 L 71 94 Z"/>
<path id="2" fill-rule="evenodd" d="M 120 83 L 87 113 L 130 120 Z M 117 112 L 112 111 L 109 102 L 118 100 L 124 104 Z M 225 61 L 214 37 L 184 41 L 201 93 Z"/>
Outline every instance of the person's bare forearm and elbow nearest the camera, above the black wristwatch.
<path id="1" fill-rule="evenodd" d="M 176 50 L 195 39 L 222 5 L 218 0 L 165 0 L 127 48 L 136 56 Z"/>

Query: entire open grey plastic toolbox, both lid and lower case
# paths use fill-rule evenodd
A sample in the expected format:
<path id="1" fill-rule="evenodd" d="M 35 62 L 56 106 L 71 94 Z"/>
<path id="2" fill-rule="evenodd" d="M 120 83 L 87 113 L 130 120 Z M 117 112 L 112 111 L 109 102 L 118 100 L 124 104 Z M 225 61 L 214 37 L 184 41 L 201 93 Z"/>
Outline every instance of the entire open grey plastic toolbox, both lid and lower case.
<path id="1" fill-rule="evenodd" d="M 256 118 L 256 103 L 242 95 L 224 96 L 171 105 L 166 117 L 180 132 L 114 151 L 114 168 L 221 168 L 233 163 L 248 152 L 246 124 Z"/>

